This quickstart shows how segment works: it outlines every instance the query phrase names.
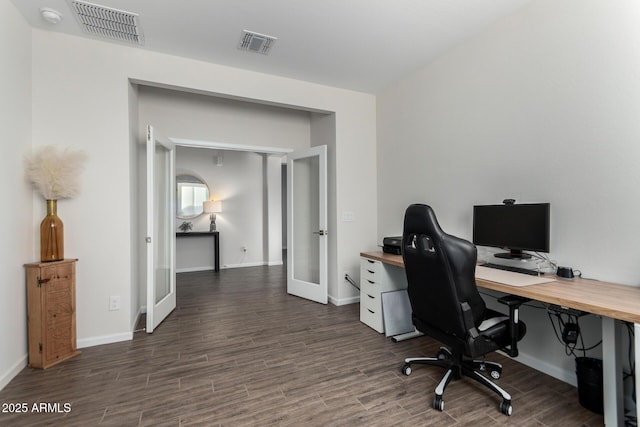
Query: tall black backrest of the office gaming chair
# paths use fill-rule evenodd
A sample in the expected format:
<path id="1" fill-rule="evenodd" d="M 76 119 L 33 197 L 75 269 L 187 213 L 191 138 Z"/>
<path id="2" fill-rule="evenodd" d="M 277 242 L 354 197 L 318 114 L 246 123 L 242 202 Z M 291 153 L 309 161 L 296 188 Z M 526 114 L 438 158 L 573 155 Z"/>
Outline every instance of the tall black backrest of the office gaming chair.
<path id="1" fill-rule="evenodd" d="M 407 208 L 402 257 L 414 317 L 462 338 L 467 328 L 461 304 L 467 302 L 474 325 L 482 322 L 486 305 L 475 282 L 476 247 L 442 231 L 430 206 Z"/>

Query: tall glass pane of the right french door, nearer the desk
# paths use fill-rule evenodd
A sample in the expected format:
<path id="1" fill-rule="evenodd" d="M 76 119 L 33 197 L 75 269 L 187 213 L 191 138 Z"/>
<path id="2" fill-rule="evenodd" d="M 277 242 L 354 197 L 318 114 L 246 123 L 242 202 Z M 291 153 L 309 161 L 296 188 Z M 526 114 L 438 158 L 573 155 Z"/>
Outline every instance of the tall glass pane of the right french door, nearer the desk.
<path id="1" fill-rule="evenodd" d="M 293 161 L 293 278 L 320 283 L 318 156 Z"/>

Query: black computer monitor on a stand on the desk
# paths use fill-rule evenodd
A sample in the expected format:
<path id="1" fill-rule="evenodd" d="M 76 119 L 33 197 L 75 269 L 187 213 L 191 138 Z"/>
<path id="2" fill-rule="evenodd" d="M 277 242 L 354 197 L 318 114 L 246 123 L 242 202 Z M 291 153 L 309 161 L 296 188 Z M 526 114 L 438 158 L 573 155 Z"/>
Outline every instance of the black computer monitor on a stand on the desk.
<path id="1" fill-rule="evenodd" d="M 526 259 L 523 251 L 549 252 L 549 203 L 473 207 L 473 243 L 508 249 L 498 258 Z"/>

